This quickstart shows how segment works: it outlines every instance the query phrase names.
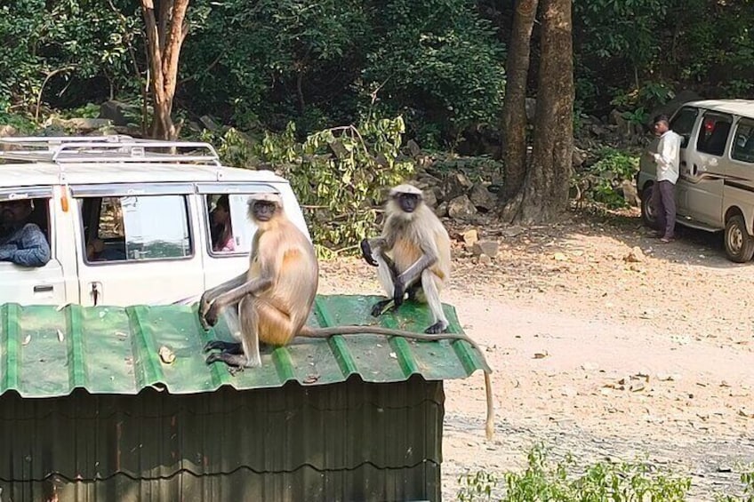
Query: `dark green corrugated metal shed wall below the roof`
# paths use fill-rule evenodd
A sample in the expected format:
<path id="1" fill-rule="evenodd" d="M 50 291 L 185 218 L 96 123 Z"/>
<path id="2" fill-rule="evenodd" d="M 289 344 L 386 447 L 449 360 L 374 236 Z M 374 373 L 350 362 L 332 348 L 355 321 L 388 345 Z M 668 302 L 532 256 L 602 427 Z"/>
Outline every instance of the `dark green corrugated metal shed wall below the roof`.
<path id="1" fill-rule="evenodd" d="M 439 500 L 442 381 L 0 396 L 4 501 Z"/>

